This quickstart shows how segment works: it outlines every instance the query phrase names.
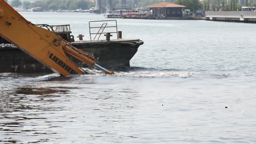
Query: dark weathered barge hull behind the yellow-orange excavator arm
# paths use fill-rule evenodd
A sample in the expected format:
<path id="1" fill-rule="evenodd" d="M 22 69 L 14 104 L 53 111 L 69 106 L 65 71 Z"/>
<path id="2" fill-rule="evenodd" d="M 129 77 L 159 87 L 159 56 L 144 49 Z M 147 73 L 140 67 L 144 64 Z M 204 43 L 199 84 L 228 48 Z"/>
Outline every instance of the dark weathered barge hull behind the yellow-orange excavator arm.
<path id="1" fill-rule="evenodd" d="M 75 41 L 73 46 L 94 53 L 97 62 L 103 67 L 129 67 L 130 60 L 138 47 L 143 44 L 139 39 Z M 35 46 L 36 49 L 36 46 Z M 82 67 L 85 64 L 71 57 Z M 50 69 L 36 61 L 18 47 L 0 44 L 0 73 L 49 73 Z"/>

